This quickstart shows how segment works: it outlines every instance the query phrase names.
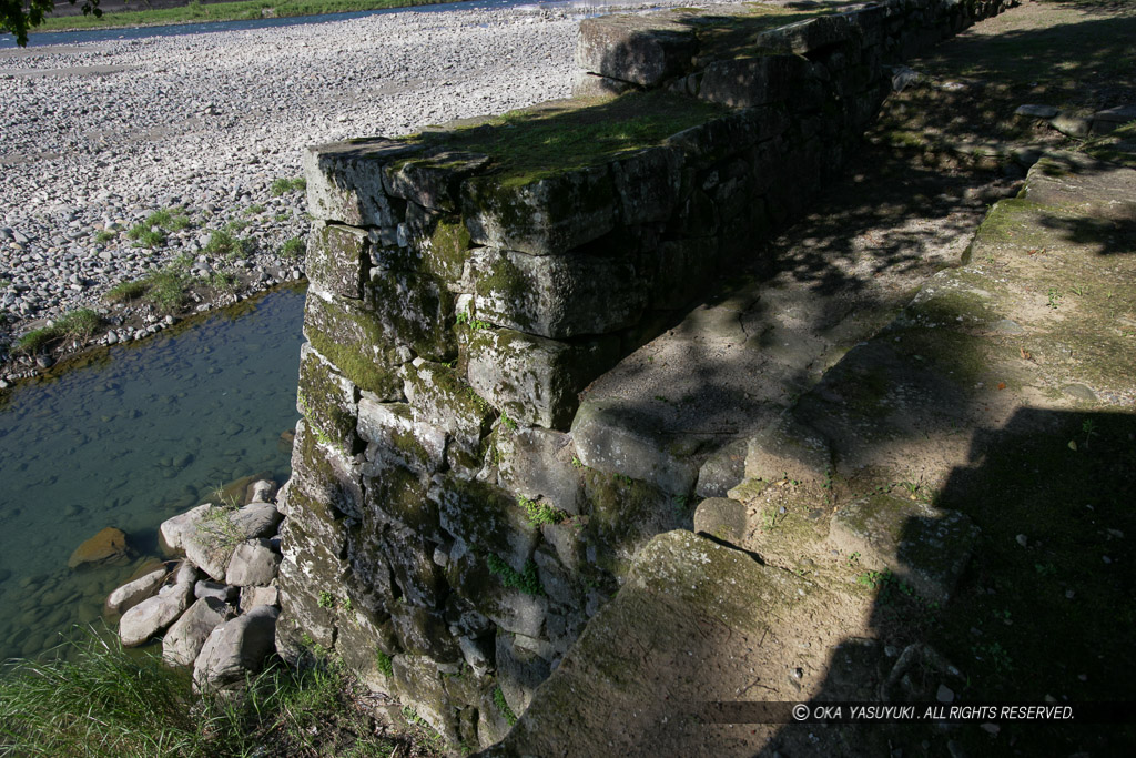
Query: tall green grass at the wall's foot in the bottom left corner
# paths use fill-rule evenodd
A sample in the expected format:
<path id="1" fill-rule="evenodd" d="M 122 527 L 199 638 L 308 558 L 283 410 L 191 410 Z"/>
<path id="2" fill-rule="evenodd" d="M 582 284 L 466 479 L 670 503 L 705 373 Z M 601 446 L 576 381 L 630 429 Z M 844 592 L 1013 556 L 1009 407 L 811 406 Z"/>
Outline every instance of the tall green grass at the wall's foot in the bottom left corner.
<path id="1" fill-rule="evenodd" d="M 49 660 L 19 660 L 0 676 L 0 755 L 391 756 L 353 702 L 337 661 L 252 678 L 243 701 L 192 693 L 190 674 L 117 638 L 85 633 Z M 402 745 L 406 747 L 406 745 Z"/>

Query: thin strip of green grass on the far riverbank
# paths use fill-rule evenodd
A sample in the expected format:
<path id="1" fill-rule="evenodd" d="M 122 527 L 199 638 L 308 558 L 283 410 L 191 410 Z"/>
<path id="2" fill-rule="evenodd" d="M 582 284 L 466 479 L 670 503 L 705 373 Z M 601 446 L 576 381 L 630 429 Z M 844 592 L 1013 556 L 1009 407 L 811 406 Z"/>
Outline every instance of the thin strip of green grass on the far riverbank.
<path id="1" fill-rule="evenodd" d="M 60 32 L 68 30 L 116 28 L 128 26 L 159 26 L 165 24 L 198 24 L 202 22 L 231 22 L 253 18 L 284 18 L 293 16 L 316 16 L 319 14 L 346 14 L 384 8 L 431 6 L 454 0 L 237 0 L 236 2 L 202 3 L 197 0 L 181 8 L 107 11 L 101 17 L 59 16 L 48 17 L 35 27 L 36 32 Z M 34 34 L 34 32 L 33 32 Z"/>

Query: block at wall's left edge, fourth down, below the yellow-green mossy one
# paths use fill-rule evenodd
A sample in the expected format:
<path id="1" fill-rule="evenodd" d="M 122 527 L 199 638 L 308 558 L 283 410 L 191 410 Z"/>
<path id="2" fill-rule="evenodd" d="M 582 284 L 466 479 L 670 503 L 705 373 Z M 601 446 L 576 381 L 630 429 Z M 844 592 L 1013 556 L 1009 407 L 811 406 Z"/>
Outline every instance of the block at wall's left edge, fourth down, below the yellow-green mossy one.
<path id="1" fill-rule="evenodd" d="M 359 390 L 311 347 L 300 348 L 296 409 L 311 433 L 337 450 L 354 452 Z"/>

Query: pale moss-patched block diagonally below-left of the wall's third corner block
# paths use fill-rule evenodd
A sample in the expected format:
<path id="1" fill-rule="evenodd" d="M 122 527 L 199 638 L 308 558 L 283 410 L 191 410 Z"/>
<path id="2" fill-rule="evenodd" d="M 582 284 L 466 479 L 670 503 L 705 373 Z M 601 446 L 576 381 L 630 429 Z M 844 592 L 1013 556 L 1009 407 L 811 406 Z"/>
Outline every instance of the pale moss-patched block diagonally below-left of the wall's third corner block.
<path id="1" fill-rule="evenodd" d="M 402 377 L 415 420 L 444 431 L 467 456 L 476 458 L 492 420 L 492 409 L 476 388 L 462 382 L 452 368 L 425 361 L 406 366 Z"/>

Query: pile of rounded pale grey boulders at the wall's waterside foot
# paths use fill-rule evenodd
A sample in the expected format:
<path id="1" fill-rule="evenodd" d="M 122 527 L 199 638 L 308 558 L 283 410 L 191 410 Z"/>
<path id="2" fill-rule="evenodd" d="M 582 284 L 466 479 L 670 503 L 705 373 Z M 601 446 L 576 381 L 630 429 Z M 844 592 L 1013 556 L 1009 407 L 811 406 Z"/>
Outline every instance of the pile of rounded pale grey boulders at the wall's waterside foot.
<path id="1" fill-rule="evenodd" d="M 275 650 L 279 614 L 275 493 L 275 483 L 260 481 L 240 508 L 204 503 L 162 523 L 162 549 L 182 558 L 172 572 L 162 566 L 107 599 L 123 614 L 123 644 L 165 632 L 162 657 L 192 666 L 201 690 L 239 688 L 259 670 Z"/>

